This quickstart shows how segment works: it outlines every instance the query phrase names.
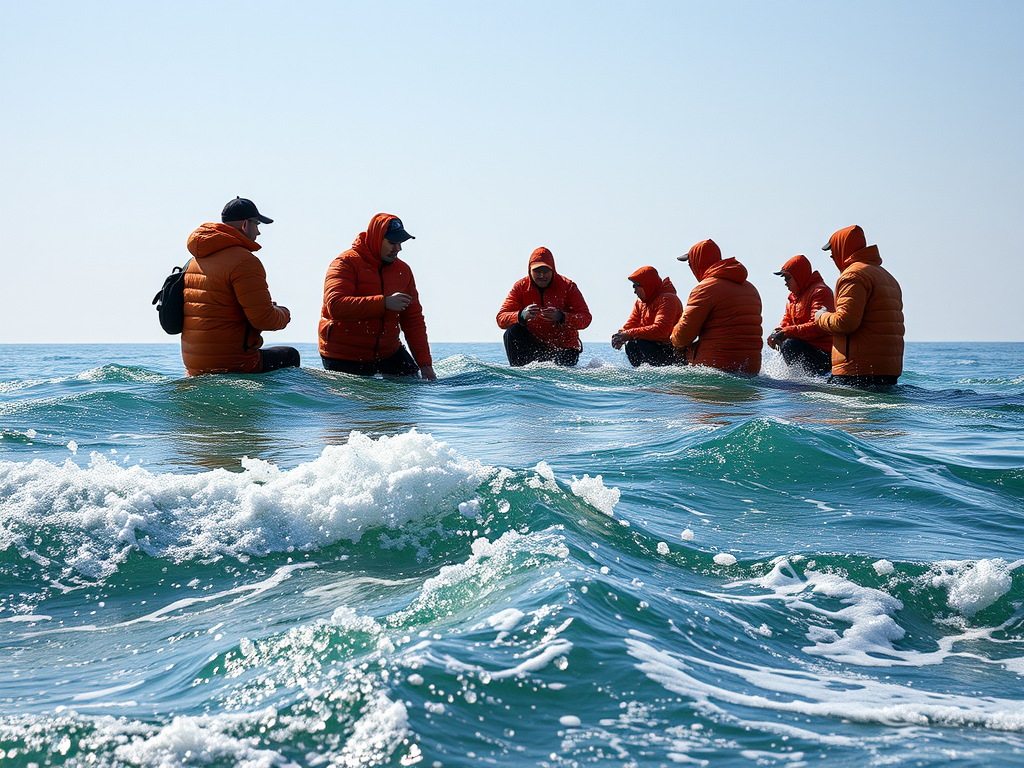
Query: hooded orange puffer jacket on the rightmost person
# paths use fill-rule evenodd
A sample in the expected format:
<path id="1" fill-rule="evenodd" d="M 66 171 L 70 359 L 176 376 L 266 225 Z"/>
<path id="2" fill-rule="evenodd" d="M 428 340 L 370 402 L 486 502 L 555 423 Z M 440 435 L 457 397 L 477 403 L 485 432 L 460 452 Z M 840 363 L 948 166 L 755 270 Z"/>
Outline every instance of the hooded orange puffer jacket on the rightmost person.
<path id="1" fill-rule="evenodd" d="M 836 311 L 817 318 L 833 335 L 837 376 L 899 376 L 903 373 L 903 293 L 882 266 L 878 246 L 867 246 L 859 226 L 840 229 L 828 241 L 839 267 Z"/>

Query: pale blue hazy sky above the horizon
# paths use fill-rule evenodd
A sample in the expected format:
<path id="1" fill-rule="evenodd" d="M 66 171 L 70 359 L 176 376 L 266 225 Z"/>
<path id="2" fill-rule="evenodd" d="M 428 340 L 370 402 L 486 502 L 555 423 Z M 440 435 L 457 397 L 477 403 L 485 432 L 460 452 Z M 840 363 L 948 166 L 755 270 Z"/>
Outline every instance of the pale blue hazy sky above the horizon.
<path id="1" fill-rule="evenodd" d="M 859 223 L 910 341 L 1022 341 L 1022 2 L 0 0 L 0 342 L 171 341 L 151 306 L 223 204 L 313 342 L 378 211 L 430 339 L 500 341 L 552 250 L 606 345 L 651 264 L 714 239 L 772 272 Z M 308 361 L 307 362 L 311 362 Z"/>

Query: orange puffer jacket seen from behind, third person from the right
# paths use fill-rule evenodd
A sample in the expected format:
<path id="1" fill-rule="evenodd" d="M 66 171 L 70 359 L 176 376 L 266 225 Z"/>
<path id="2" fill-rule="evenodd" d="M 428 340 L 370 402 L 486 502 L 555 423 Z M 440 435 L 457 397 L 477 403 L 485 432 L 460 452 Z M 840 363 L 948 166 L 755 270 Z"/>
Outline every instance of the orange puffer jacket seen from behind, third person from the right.
<path id="1" fill-rule="evenodd" d="M 672 343 L 696 366 L 756 374 L 761 371 L 761 296 L 746 281 L 746 267 L 723 259 L 714 241 L 689 251 L 696 287 L 690 291 Z M 695 343 L 694 343 L 695 342 Z"/>

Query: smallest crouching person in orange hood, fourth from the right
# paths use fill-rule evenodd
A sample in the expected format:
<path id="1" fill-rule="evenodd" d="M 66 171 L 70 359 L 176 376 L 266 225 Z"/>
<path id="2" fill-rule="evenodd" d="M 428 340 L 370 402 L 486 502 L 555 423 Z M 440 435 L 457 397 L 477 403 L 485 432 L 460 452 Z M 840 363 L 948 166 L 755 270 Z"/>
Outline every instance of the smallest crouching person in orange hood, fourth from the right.
<path id="1" fill-rule="evenodd" d="M 676 361 L 672 329 L 683 313 L 676 287 L 669 278 L 662 280 L 652 266 L 637 269 L 630 275 L 630 282 L 637 300 L 626 325 L 612 334 L 611 346 L 626 347 L 626 356 L 634 368 L 644 362 L 671 366 Z"/>

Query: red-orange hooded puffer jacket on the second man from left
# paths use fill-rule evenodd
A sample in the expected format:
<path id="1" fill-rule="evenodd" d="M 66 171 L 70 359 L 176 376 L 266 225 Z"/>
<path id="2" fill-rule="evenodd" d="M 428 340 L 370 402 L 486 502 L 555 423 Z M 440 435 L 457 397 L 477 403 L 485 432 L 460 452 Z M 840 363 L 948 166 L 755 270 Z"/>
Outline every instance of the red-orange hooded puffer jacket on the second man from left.
<path id="1" fill-rule="evenodd" d="M 413 270 L 398 258 L 390 264 L 381 260 L 381 244 L 394 218 L 378 213 L 328 267 L 318 329 L 324 357 L 357 362 L 390 357 L 401 345 L 401 331 L 416 365 L 433 365 Z M 384 299 L 393 293 L 409 294 L 413 301 L 401 312 L 386 309 Z"/>

